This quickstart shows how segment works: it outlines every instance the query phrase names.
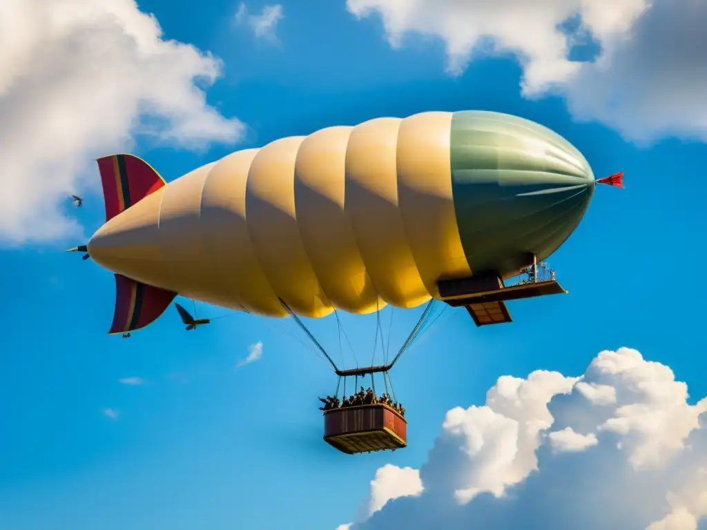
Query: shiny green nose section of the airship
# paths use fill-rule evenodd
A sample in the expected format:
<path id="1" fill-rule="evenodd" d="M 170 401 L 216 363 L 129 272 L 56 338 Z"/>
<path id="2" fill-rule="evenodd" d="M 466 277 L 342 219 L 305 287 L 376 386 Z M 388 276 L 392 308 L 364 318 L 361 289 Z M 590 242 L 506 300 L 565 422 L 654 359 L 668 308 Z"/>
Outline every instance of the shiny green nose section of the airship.
<path id="1" fill-rule="evenodd" d="M 474 273 L 515 276 L 577 228 L 595 181 L 584 156 L 546 127 L 508 114 L 452 116 L 452 195 Z"/>

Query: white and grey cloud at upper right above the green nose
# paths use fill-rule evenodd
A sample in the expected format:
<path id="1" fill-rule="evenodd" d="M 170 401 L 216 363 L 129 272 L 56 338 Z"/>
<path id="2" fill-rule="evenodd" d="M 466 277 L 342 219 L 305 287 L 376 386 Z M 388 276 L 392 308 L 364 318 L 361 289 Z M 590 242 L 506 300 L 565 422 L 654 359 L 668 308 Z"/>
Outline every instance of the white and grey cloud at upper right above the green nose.
<path id="1" fill-rule="evenodd" d="M 560 90 L 573 114 L 636 141 L 707 140 L 703 0 L 346 0 L 346 7 L 357 18 L 380 14 L 393 47 L 408 33 L 442 39 L 454 75 L 476 57 L 513 54 L 527 96 Z M 592 39 L 595 60 L 568 59 Z"/>

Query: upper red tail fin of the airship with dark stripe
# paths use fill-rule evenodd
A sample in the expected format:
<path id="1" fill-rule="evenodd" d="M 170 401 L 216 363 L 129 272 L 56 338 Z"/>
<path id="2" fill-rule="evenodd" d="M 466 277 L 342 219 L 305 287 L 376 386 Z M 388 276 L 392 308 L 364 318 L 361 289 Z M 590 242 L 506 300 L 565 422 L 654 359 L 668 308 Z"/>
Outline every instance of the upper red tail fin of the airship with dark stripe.
<path id="1" fill-rule="evenodd" d="M 110 155 L 97 161 L 106 221 L 166 184 L 158 172 L 134 155 Z"/>

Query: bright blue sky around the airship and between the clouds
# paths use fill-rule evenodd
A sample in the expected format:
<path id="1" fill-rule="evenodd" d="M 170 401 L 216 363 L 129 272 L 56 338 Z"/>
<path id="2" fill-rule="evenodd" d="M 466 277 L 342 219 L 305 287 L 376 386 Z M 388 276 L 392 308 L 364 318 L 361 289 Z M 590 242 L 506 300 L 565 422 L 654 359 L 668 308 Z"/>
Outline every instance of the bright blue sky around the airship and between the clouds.
<path id="1" fill-rule="evenodd" d="M 248 4 L 250 13 L 262 7 Z M 165 179 L 323 126 L 481 109 L 549 126 L 585 154 L 595 175 L 624 171 L 627 188 L 597 188 L 578 230 L 551 257 L 568 295 L 512 302 L 515 322 L 486 329 L 464 310 L 446 310 L 392 375 L 407 407 L 409 447 L 358 457 L 321 440 L 317 396 L 336 380 L 282 332 L 297 333 L 292 322 L 231 314 L 185 334 L 170 307 L 124 341 L 106 335 L 112 273 L 62 252 L 81 241 L 4 247 L 1 528 L 333 530 L 352 520 L 376 469 L 426 461 L 450 408 L 483 404 L 501 375 L 581 375 L 605 349 L 629 346 L 669 365 L 690 403 L 707 395 L 707 288 L 698 270 L 707 259 L 707 146 L 693 129 L 687 139 L 635 143 L 630 127 L 617 126 L 623 122 L 578 119 L 584 111 L 568 110 L 561 92 L 523 97 L 516 57 L 481 57 L 455 76 L 439 38 L 408 35 L 395 49 L 380 17 L 357 20 L 340 1 L 284 1 L 276 40 L 236 25 L 233 1 L 147 0 L 139 8 L 155 14 L 165 39 L 221 58 L 223 77 L 207 100 L 247 126 L 238 144 L 201 150 L 138 136 L 132 152 Z M 90 179 L 98 182 L 95 170 L 81 182 Z M 83 208 L 62 206 L 86 235 L 103 222 L 95 186 L 79 188 Z M 395 311 L 392 342 L 420 311 Z M 207 305 L 197 312 L 228 313 Z M 385 310 L 385 328 L 389 317 Z M 347 316 L 344 326 L 356 348 L 370 351 L 375 318 Z M 312 329 L 337 348 L 332 319 Z M 235 370 L 259 341 L 262 358 Z M 126 377 L 144 384 L 121 384 Z"/>

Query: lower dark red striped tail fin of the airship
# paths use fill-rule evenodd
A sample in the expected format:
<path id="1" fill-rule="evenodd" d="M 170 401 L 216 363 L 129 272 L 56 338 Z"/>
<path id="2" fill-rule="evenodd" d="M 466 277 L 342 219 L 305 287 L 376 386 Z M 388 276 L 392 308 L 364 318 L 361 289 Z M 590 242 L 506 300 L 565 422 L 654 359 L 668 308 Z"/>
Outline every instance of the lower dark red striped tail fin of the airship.
<path id="1" fill-rule="evenodd" d="M 177 293 L 115 275 L 115 314 L 108 334 L 140 329 L 160 317 Z"/>

